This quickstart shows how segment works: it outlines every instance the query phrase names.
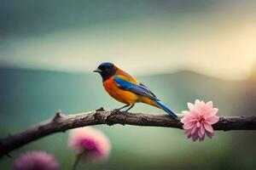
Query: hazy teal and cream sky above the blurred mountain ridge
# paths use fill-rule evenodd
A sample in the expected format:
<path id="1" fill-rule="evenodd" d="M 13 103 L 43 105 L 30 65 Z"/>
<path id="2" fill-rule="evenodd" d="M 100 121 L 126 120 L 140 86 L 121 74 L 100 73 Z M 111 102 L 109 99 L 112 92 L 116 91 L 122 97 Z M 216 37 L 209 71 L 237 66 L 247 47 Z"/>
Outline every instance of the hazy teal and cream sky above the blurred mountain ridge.
<path id="1" fill-rule="evenodd" d="M 256 65 L 255 1 L 0 2 L 2 66 L 243 79 Z"/>

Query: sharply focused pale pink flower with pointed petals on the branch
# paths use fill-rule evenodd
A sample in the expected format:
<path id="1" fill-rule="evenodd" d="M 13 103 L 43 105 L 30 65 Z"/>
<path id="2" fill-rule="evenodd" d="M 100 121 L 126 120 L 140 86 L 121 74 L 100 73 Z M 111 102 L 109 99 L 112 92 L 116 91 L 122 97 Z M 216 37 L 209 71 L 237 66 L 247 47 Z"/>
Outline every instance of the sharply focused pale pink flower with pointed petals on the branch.
<path id="1" fill-rule="evenodd" d="M 199 139 L 202 141 L 205 139 L 205 134 L 212 139 L 213 128 L 212 124 L 218 122 L 217 108 L 213 108 L 212 101 L 205 104 L 204 101 L 199 99 L 195 100 L 195 105 L 188 103 L 189 111 L 182 111 L 183 128 L 188 138 L 192 138 L 193 141 Z"/>

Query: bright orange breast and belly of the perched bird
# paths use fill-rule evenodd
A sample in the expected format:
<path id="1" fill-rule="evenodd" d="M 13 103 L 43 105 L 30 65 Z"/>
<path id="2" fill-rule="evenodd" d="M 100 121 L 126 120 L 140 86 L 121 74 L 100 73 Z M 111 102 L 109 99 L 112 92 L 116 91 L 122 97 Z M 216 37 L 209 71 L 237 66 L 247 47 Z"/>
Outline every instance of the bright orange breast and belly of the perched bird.
<path id="1" fill-rule="evenodd" d="M 136 103 L 139 99 L 137 94 L 133 94 L 129 91 L 125 91 L 118 87 L 118 85 L 113 82 L 113 77 L 108 78 L 108 80 L 103 82 L 105 90 L 108 92 L 113 99 L 119 100 L 119 102 L 132 105 Z"/>

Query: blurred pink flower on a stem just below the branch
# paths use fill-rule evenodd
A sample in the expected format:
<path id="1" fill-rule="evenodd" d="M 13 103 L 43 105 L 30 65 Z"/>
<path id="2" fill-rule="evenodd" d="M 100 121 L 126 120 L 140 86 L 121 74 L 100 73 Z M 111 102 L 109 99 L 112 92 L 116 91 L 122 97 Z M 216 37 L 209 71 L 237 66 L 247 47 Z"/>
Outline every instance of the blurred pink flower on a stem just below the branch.
<path id="1" fill-rule="evenodd" d="M 82 154 L 84 161 L 106 161 L 111 148 L 108 137 L 92 127 L 71 130 L 69 146 L 78 154 Z"/>

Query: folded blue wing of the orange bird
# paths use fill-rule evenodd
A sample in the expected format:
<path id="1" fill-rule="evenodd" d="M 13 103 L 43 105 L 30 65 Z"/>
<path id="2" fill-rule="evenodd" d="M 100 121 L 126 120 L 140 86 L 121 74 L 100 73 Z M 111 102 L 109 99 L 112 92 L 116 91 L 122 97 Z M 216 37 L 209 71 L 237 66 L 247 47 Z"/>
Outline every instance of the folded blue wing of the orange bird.
<path id="1" fill-rule="evenodd" d="M 119 86 L 119 88 L 121 88 L 123 90 L 130 91 L 134 94 L 146 96 L 150 99 L 157 99 L 154 96 L 154 94 L 146 86 L 144 86 L 141 83 L 136 84 L 136 83 L 132 83 L 132 82 L 127 82 L 118 76 L 113 77 L 113 82 L 115 82 Z"/>

